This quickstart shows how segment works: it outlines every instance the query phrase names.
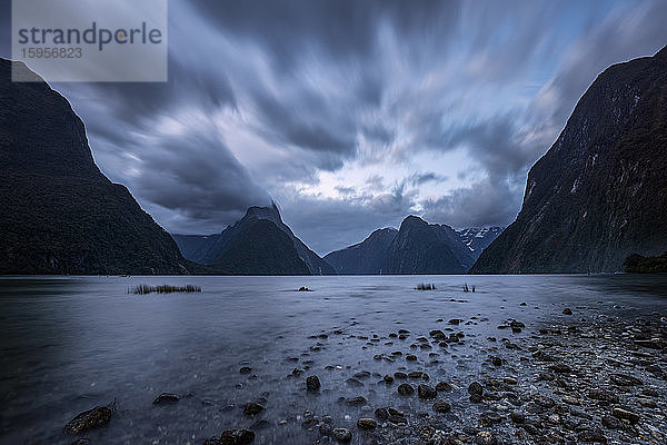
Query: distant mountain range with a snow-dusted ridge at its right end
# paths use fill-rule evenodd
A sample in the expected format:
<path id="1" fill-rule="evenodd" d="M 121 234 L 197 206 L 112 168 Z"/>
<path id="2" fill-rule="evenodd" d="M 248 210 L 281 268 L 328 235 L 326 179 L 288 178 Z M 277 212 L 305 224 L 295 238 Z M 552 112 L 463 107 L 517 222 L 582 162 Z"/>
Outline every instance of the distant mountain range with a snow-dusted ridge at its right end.
<path id="1" fill-rule="evenodd" d="M 364 241 L 325 256 L 337 274 L 465 274 L 502 229 L 454 230 L 407 217 L 400 229 L 379 229 Z"/>

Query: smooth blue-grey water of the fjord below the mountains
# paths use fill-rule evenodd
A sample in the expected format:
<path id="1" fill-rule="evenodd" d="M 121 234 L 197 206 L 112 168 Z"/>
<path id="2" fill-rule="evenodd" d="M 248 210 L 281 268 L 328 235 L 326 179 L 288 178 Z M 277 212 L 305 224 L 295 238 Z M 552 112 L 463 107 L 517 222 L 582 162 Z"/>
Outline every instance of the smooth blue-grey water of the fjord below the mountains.
<path id="1" fill-rule="evenodd" d="M 464 293 L 466 281 L 477 291 Z M 420 283 L 437 290 L 415 290 Z M 127 293 L 138 284 L 195 284 L 202 293 Z M 296 291 L 300 286 L 312 291 Z M 462 385 L 482 372 L 482 342 L 511 335 L 499 324 L 516 318 L 534 328 L 564 317 L 566 306 L 578 308 L 576 316 L 628 320 L 665 313 L 667 277 L 4 277 L 0 443 L 70 444 L 63 425 L 115 399 L 109 425 L 86 435 L 91 443 L 199 444 L 225 428 L 253 424 L 258 444 L 312 443 L 318 434 L 301 428 L 306 409 L 351 428 L 372 413 L 339 397 L 361 395 L 372 408 L 419 409 L 416 397 L 397 403 L 395 388 L 378 383 L 381 375 L 419 369 L 432 382 L 446 376 Z M 450 318 L 470 324 L 450 326 Z M 388 338 L 400 328 L 412 333 L 409 339 Z M 409 348 L 418 336 L 446 328 L 462 332 L 465 344 Z M 328 338 L 312 338 L 322 333 Z M 381 339 L 358 338 L 374 334 Z M 419 362 L 374 359 L 395 350 Z M 252 372 L 242 375 L 241 366 Z M 309 369 L 288 377 L 295 367 Z M 360 370 L 378 374 L 359 378 L 361 387 L 346 384 Z M 306 392 L 310 374 L 320 377 L 320 394 Z M 162 392 L 182 398 L 153 405 Z M 246 417 L 242 405 L 259 397 L 267 411 Z"/>

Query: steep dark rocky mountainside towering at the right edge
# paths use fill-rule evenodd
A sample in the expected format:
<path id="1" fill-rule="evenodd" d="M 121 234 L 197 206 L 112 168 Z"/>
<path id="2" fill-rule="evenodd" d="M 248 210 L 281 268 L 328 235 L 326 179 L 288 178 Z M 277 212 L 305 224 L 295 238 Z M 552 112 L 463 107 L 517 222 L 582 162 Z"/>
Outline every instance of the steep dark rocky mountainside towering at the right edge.
<path id="1" fill-rule="evenodd" d="M 667 250 L 667 47 L 605 70 L 532 166 L 516 221 L 472 273 L 623 270 Z"/>

